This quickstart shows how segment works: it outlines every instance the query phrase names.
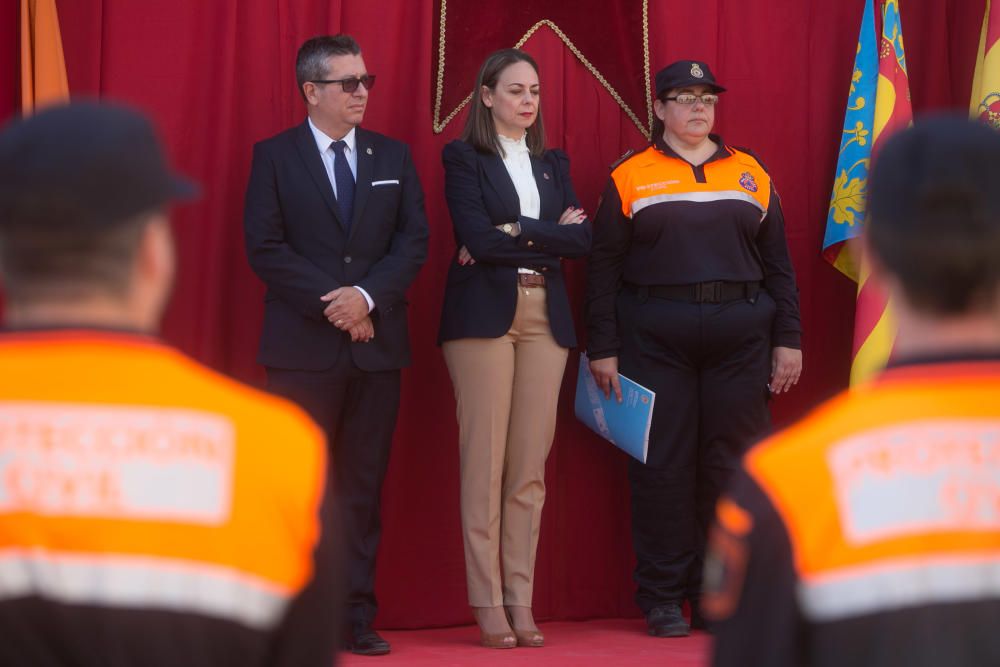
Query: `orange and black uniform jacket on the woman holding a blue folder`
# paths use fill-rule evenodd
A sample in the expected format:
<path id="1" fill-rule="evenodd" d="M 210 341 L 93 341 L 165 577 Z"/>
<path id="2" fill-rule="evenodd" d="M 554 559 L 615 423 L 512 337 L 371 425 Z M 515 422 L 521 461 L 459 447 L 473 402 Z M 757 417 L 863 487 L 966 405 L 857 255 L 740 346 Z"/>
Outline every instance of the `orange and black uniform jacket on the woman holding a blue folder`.
<path id="1" fill-rule="evenodd" d="M 588 354 L 618 355 L 622 283 L 762 281 L 777 304 L 771 344 L 798 348 L 798 293 L 781 202 L 750 152 L 727 146 L 701 165 L 663 139 L 619 163 L 601 197 L 587 280 Z"/>

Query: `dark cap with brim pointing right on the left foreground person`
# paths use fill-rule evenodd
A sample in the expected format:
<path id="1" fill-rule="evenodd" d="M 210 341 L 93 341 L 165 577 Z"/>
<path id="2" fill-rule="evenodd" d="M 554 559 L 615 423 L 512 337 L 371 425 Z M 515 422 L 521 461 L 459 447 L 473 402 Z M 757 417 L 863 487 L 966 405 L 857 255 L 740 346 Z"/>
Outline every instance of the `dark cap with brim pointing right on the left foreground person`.
<path id="1" fill-rule="evenodd" d="M 0 228 L 97 230 L 196 194 L 167 166 L 146 116 L 127 106 L 49 107 L 0 131 Z"/>

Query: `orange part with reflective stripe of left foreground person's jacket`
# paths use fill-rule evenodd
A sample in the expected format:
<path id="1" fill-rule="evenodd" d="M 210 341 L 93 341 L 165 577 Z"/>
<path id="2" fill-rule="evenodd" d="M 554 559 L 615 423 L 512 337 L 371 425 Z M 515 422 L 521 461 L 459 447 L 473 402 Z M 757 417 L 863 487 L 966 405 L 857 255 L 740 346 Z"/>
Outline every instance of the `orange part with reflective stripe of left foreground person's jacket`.
<path id="1" fill-rule="evenodd" d="M 324 437 L 153 339 L 0 337 L 0 603 L 277 625 L 313 575 Z"/>

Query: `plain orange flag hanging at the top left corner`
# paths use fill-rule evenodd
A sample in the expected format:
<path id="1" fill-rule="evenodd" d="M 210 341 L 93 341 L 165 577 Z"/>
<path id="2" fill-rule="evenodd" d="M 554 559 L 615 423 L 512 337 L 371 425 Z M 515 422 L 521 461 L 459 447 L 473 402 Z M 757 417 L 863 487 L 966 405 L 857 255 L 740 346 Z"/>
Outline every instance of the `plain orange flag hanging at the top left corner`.
<path id="1" fill-rule="evenodd" d="M 21 0 L 21 113 L 69 100 L 55 0 Z"/>

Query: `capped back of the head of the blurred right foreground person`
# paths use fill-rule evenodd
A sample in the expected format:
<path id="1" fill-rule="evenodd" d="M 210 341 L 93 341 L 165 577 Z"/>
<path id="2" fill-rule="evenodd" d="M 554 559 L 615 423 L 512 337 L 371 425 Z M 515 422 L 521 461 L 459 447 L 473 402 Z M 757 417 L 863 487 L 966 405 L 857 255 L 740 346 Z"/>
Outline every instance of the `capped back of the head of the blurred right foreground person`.
<path id="1" fill-rule="evenodd" d="M 1000 296 L 1000 133 L 940 117 L 894 135 L 869 180 L 872 252 L 913 308 L 988 311 Z"/>

